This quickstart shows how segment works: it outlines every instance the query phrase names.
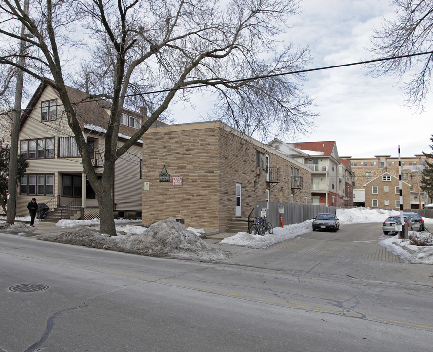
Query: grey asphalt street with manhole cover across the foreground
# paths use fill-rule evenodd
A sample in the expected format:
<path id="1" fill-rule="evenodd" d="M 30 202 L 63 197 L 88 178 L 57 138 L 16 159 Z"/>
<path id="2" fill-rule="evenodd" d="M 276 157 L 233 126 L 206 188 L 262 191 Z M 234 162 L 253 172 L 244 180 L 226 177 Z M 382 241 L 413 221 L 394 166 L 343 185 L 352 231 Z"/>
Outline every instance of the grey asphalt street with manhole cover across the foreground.
<path id="1" fill-rule="evenodd" d="M 349 232 L 305 238 L 349 243 Z M 0 234 L 0 351 L 431 351 L 431 285 L 334 272 L 385 265 L 411 271 L 416 282 L 431 266 L 233 250 L 238 262 L 256 257 L 256 265 L 157 259 Z M 272 263 L 280 253 L 287 265 L 318 264 L 258 265 L 262 256 Z M 47 289 L 11 291 L 19 284 Z"/>

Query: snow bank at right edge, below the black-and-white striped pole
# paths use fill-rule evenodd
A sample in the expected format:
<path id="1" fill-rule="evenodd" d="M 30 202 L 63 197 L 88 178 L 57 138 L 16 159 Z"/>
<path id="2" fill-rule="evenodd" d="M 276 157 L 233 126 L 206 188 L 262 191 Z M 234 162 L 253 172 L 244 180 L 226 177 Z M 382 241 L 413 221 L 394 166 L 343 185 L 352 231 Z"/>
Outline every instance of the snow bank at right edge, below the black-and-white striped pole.
<path id="1" fill-rule="evenodd" d="M 413 232 L 409 231 L 409 234 Z M 433 264 L 433 246 L 414 246 L 410 244 L 408 239 L 399 239 L 398 235 L 381 240 L 379 244 L 402 258 L 405 262 Z"/>

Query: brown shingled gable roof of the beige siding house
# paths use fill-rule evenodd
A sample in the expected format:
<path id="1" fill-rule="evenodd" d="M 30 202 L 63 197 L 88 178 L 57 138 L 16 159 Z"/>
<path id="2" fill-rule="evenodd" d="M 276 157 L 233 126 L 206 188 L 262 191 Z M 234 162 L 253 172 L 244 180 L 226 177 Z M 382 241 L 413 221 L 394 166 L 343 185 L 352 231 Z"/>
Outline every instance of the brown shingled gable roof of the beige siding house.
<path id="1" fill-rule="evenodd" d="M 26 109 L 24 110 L 21 116 L 20 129 L 22 128 L 26 120 L 29 118 L 31 111 L 34 108 L 36 108 L 36 104 L 38 104 L 38 102 L 40 101 L 42 93 L 47 88 L 50 89 L 51 87 L 45 82 L 41 82 L 38 88 L 36 88 L 35 93 L 33 94 L 32 98 L 27 104 Z M 51 89 L 57 94 L 57 92 L 53 88 Z M 110 102 L 106 100 L 91 99 L 88 93 L 80 89 L 76 89 L 68 86 L 66 86 L 66 89 L 68 91 L 69 99 L 75 108 L 75 113 L 81 129 L 82 130 L 84 130 L 84 128 L 91 129 L 89 128 L 89 126 L 95 126 L 95 127 L 101 127 L 106 131 L 110 119 L 110 112 L 109 112 L 111 108 Z M 122 112 L 130 116 L 136 117 L 140 119 L 142 122 L 148 119 L 147 116 L 141 115 L 140 113 L 132 110 L 123 109 Z M 158 120 L 154 123 L 154 125 L 155 124 L 165 125 L 165 123 L 162 123 Z M 98 128 L 91 129 L 91 130 L 101 133 L 101 129 Z M 119 134 L 122 134 L 124 136 L 130 137 L 136 131 L 137 131 L 136 129 L 123 124 L 120 124 L 119 126 Z"/>

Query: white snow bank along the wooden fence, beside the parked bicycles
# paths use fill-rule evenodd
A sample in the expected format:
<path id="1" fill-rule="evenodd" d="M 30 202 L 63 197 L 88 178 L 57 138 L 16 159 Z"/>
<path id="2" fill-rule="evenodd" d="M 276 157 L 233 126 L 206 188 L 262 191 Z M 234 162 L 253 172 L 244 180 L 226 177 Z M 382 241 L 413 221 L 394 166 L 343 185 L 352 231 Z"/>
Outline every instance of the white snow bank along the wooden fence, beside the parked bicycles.
<path id="1" fill-rule="evenodd" d="M 284 226 L 284 228 L 275 227 L 274 233 L 272 235 L 270 235 L 268 232 L 266 232 L 264 236 L 251 235 L 247 232 L 238 232 L 234 236 L 226 237 L 220 243 L 234 244 L 256 249 L 266 248 L 272 244 L 311 232 L 313 230 L 311 222 L 312 221 L 307 220 L 300 224 Z"/>

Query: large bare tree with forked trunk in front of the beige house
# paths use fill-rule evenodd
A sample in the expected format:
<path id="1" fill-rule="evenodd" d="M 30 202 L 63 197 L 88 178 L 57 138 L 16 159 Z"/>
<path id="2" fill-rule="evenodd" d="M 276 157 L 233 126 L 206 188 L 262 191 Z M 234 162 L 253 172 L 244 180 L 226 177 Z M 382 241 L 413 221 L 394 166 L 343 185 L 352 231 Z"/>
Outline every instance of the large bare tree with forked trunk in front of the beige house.
<path id="1" fill-rule="evenodd" d="M 174 102 L 200 89 L 219 98 L 215 110 L 246 133 L 278 129 L 304 132 L 314 114 L 300 86 L 302 76 L 274 76 L 299 69 L 307 49 L 281 47 L 275 38 L 297 14 L 300 0 L 31 0 L 27 16 L 18 0 L 0 2 L 0 64 L 17 66 L 14 41 L 28 44 L 25 73 L 54 88 L 75 135 L 83 168 L 98 198 L 101 231 L 115 234 L 114 163 Z M 21 37 L 17 23 L 32 36 Z M 73 57 L 81 54 L 77 70 Z M 255 77 L 273 76 L 255 80 Z M 66 85 L 87 99 L 110 103 L 105 168 L 98 178 Z M 148 120 L 118 146 L 123 108 L 145 106 Z M 89 121 L 91 123 L 91 121 Z"/>

